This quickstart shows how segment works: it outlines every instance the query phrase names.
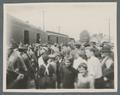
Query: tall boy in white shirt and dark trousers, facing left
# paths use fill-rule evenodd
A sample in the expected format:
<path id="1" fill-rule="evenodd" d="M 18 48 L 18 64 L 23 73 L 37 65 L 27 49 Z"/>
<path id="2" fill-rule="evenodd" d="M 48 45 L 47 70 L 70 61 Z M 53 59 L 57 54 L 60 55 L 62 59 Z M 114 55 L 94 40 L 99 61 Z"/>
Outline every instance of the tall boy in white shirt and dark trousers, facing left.
<path id="1" fill-rule="evenodd" d="M 101 84 L 103 82 L 102 65 L 100 63 L 100 60 L 95 56 L 95 49 L 92 47 L 86 47 L 85 52 L 88 58 L 88 73 L 91 77 L 95 79 L 95 88 L 103 88 L 103 85 Z"/>

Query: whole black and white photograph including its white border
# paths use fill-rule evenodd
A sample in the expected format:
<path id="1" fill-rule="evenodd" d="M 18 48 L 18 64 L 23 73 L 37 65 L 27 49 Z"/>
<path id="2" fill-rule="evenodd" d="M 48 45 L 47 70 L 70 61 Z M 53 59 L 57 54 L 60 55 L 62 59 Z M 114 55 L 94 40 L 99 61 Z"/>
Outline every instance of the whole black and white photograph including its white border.
<path id="1" fill-rule="evenodd" d="M 116 92 L 117 3 L 4 4 L 4 92 Z"/>

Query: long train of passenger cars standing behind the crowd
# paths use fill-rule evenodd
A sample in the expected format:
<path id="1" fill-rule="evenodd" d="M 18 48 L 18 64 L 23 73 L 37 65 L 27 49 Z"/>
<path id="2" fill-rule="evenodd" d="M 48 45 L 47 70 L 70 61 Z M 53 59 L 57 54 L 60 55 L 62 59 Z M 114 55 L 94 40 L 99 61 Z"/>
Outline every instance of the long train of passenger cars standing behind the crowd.
<path id="1" fill-rule="evenodd" d="M 6 16 L 6 39 L 7 42 L 15 41 L 16 43 L 32 44 L 32 43 L 68 43 L 70 38 L 68 35 L 57 33 L 54 31 L 43 31 L 28 22 L 24 22 L 11 15 Z"/>

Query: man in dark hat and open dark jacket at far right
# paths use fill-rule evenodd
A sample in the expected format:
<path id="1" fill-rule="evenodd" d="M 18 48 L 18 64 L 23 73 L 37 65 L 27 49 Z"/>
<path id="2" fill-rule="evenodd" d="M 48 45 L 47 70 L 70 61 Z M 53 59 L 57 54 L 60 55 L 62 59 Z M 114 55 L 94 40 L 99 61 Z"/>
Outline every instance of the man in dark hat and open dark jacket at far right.
<path id="1" fill-rule="evenodd" d="M 102 73 L 104 80 L 104 88 L 114 87 L 114 58 L 110 45 L 106 44 L 102 47 Z"/>

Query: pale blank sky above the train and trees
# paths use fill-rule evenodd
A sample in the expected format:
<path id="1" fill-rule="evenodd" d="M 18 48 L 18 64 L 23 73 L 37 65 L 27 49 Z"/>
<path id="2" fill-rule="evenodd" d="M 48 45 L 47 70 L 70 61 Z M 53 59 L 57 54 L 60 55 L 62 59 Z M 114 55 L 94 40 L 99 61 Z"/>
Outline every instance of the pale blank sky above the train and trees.
<path id="1" fill-rule="evenodd" d="M 116 3 L 37 3 L 5 4 L 5 14 L 12 15 L 45 30 L 59 32 L 79 39 L 87 30 L 116 36 Z M 44 24 L 43 24 L 44 22 Z"/>

